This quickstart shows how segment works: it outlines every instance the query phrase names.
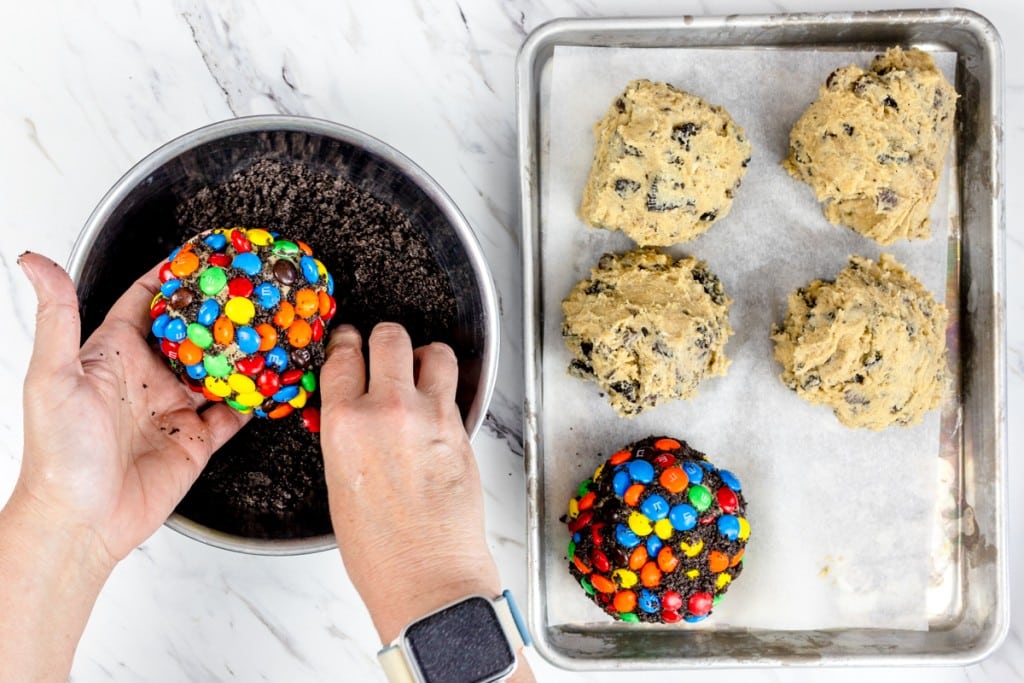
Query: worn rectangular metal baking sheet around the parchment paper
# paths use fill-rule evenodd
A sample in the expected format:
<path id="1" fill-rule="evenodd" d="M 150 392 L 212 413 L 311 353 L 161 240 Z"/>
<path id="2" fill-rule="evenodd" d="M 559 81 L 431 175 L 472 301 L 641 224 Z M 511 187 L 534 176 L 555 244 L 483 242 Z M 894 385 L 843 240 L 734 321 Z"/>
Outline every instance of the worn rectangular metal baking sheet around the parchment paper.
<path id="1" fill-rule="evenodd" d="M 545 472 L 564 455 L 545 450 L 544 287 L 541 237 L 542 145 L 550 125 L 550 72 L 557 46 L 884 51 L 891 45 L 956 55 L 962 99 L 953 159 L 945 300 L 958 390 L 943 415 L 935 485 L 950 501 L 933 533 L 935 580 L 928 628 L 797 630 L 649 629 L 552 620 L 551 538 L 563 506 L 549 506 Z M 524 291 L 525 446 L 528 501 L 529 626 L 538 649 L 567 669 L 712 666 L 965 664 L 991 652 L 1009 626 L 1005 520 L 1006 414 L 1001 48 L 983 17 L 964 10 L 739 15 L 643 19 L 560 19 L 526 39 L 517 62 Z M 639 76 L 639 75 L 638 75 Z M 561 255 L 564 257 L 564 255 Z M 596 258 L 597 255 L 595 255 Z M 556 566 L 558 563 L 554 563 Z M 559 567 L 564 571 L 564 567 Z M 799 600 L 796 601 L 799 605 Z M 798 607 L 799 608 L 799 607 Z"/>

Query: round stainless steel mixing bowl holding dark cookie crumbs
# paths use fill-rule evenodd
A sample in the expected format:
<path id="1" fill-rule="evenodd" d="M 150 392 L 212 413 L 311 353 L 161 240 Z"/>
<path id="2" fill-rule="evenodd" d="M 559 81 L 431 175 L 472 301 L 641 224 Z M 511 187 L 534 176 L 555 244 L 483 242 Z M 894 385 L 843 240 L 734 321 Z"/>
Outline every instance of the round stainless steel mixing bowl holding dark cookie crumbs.
<path id="1" fill-rule="evenodd" d="M 182 135 L 140 161 L 99 202 L 72 250 L 69 271 L 78 289 L 83 331 L 94 329 L 112 303 L 93 296 L 99 283 L 111 286 L 112 254 L 125 249 L 133 255 L 166 253 L 154 243 L 162 229 L 175 226 L 174 207 L 260 159 L 337 174 L 399 208 L 423 232 L 456 298 L 452 332 L 460 347 L 458 401 L 472 437 L 486 415 L 498 367 L 497 296 L 483 253 L 452 198 L 423 169 L 381 140 L 336 123 L 288 116 L 232 119 Z M 132 261 L 145 265 L 138 258 Z M 127 287 L 141 273 L 124 274 Z M 177 512 L 167 524 L 204 543 L 254 554 L 301 554 L 335 545 L 330 532 L 249 538 Z"/>

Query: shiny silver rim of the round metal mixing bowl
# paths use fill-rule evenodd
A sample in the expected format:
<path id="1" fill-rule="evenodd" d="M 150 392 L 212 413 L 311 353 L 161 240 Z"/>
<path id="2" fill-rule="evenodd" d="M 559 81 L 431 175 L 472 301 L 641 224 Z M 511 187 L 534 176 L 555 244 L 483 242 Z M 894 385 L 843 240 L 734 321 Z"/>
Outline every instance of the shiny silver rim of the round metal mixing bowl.
<path id="1" fill-rule="evenodd" d="M 464 420 L 466 433 L 472 439 L 476 436 L 486 417 L 487 407 L 494 394 L 498 377 L 498 353 L 500 347 L 498 293 L 490 268 L 480 243 L 469 221 L 456 205 L 452 197 L 424 171 L 416 162 L 383 140 L 344 124 L 313 117 L 292 115 L 258 115 L 226 119 L 190 130 L 160 145 L 135 163 L 103 195 L 96 208 L 86 219 L 68 259 L 68 273 L 78 287 L 86 258 L 95 244 L 100 230 L 128 195 L 158 168 L 209 142 L 232 135 L 267 131 L 288 131 L 311 133 L 333 138 L 347 144 L 361 147 L 383 159 L 409 177 L 437 205 L 449 223 L 455 229 L 466 249 L 473 273 L 480 291 L 484 317 L 484 340 L 481 367 L 481 389 L 470 404 Z M 263 540 L 250 539 L 219 531 L 188 519 L 177 512 L 165 521 L 165 525 L 190 539 L 207 545 L 253 555 L 301 555 L 330 550 L 337 546 L 334 533 L 309 537 L 307 539 Z"/>

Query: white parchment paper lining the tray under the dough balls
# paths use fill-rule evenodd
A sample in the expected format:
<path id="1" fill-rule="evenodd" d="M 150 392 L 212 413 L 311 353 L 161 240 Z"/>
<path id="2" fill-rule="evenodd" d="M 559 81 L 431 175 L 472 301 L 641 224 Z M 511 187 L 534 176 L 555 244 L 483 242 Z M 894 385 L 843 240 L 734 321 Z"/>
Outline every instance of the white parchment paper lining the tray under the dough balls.
<path id="1" fill-rule="evenodd" d="M 813 193 L 779 166 L 790 128 L 836 68 L 866 68 L 873 52 L 794 49 L 556 48 L 542 154 L 541 249 L 544 296 L 543 495 L 564 510 L 579 482 L 617 447 L 648 434 L 686 439 L 736 473 L 752 533 L 742 575 L 712 618 L 696 628 L 927 628 L 940 416 L 882 433 L 842 426 L 825 408 L 778 380 L 769 339 L 787 295 L 831 279 L 851 254 L 892 253 L 944 300 L 950 215 L 948 160 L 932 211 L 932 238 L 881 248 L 830 225 Z M 952 81 L 953 53 L 935 53 Z M 731 213 L 694 242 L 677 246 L 708 261 L 734 299 L 728 376 L 699 395 L 615 416 L 596 385 L 566 374 L 561 300 L 601 254 L 633 247 L 618 232 L 588 227 L 577 208 L 594 150 L 593 124 L 626 83 L 666 81 L 721 104 L 754 152 Z M 542 104 L 543 105 L 543 104 Z M 565 568 L 568 533 L 548 514 L 543 561 L 551 624 L 606 624 Z"/>

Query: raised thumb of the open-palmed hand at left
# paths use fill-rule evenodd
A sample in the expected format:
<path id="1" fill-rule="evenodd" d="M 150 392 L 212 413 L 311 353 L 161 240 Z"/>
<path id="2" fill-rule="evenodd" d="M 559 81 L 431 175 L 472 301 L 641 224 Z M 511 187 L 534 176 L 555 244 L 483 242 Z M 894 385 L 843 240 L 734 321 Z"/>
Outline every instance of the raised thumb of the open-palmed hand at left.
<path id="1" fill-rule="evenodd" d="M 36 338 L 29 372 L 51 374 L 78 361 L 82 323 L 75 285 L 65 269 L 40 254 L 17 258 L 36 291 Z"/>

